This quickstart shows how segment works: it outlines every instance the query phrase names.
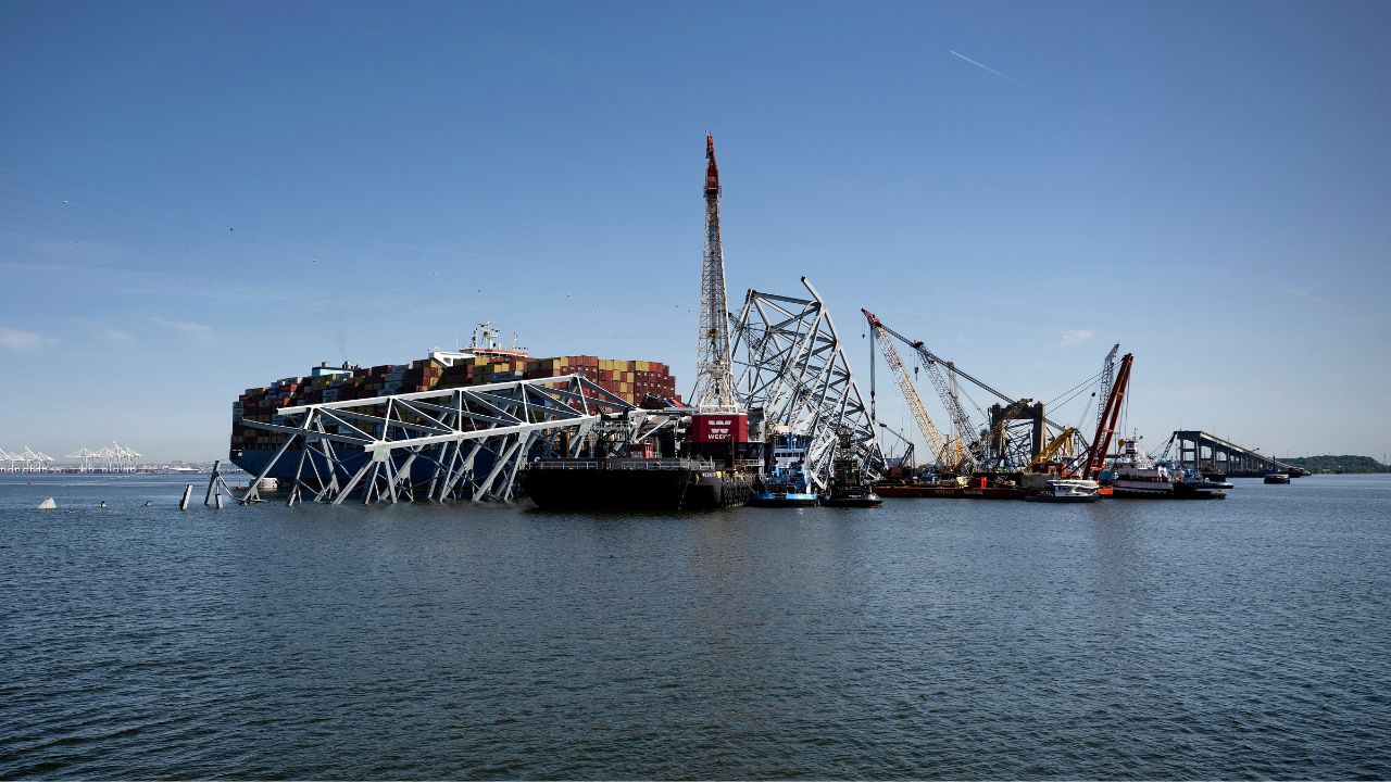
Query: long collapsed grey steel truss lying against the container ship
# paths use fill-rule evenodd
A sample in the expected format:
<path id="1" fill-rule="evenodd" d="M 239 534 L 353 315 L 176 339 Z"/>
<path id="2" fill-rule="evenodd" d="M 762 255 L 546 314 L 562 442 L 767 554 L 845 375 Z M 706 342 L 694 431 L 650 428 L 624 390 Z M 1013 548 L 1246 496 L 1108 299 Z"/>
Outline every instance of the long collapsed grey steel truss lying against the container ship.
<path id="1" fill-rule="evenodd" d="M 510 502 L 529 455 L 573 456 L 604 413 L 633 405 L 581 376 L 517 380 L 282 408 L 249 427 L 284 436 L 267 477 L 300 500 Z"/>

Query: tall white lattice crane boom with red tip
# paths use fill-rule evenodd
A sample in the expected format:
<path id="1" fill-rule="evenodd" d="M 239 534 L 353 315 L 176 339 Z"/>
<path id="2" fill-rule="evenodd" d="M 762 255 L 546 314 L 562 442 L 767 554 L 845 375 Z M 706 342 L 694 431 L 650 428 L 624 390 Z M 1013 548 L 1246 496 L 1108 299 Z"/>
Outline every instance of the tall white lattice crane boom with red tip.
<path id="1" fill-rule="evenodd" d="M 725 298 L 725 250 L 719 239 L 719 168 L 715 136 L 705 134 L 705 257 L 700 281 L 700 342 L 691 404 L 701 412 L 739 412 L 729 352 L 729 306 Z"/>

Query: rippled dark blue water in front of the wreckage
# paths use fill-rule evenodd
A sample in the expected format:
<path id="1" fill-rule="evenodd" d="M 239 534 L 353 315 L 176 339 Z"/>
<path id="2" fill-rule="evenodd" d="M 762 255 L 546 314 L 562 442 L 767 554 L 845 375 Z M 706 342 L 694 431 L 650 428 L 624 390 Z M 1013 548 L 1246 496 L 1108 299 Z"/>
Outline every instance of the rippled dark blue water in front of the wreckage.
<path id="1" fill-rule="evenodd" d="M 1391 776 L 1384 476 L 662 518 L 33 483 L 4 778 Z"/>

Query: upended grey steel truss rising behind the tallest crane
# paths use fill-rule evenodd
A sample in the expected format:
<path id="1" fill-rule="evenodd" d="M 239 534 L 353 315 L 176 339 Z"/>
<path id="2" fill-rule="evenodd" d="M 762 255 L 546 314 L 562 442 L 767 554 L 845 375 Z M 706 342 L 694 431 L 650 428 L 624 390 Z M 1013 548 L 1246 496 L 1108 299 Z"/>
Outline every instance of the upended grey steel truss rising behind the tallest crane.
<path id="1" fill-rule="evenodd" d="M 811 282 L 810 299 L 748 291 L 734 323 L 734 391 L 741 405 L 762 408 L 765 434 L 805 437 L 807 479 L 825 490 L 842 431 L 865 477 L 885 472 L 869 410 L 850 372 L 840 334 Z"/>

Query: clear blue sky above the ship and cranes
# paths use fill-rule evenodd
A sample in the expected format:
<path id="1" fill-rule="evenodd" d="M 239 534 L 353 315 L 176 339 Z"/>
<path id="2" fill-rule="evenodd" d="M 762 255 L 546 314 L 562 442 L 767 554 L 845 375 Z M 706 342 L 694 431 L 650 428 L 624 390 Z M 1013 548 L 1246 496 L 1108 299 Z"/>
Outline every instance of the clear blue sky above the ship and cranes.
<path id="1" fill-rule="evenodd" d="M 1380 458 L 1388 32 L 1384 1 L 10 1 L 0 448 L 220 456 L 242 388 L 481 320 L 689 388 L 709 129 L 732 306 L 807 274 L 862 374 L 861 306 L 1039 399 L 1121 342 L 1150 442 Z"/>

